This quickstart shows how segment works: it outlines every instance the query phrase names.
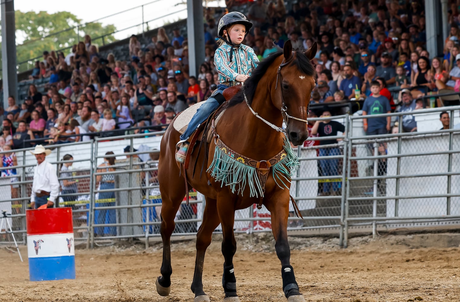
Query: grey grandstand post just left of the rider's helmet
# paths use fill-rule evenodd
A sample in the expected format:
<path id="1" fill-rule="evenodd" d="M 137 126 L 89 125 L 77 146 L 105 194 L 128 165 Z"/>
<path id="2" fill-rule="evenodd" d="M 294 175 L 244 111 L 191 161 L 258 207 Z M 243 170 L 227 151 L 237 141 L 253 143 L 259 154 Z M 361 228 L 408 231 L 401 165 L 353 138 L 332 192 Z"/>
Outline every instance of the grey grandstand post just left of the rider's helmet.
<path id="1" fill-rule="evenodd" d="M 203 1 L 187 1 L 187 37 L 189 46 L 189 74 L 198 76 L 204 62 Z"/>

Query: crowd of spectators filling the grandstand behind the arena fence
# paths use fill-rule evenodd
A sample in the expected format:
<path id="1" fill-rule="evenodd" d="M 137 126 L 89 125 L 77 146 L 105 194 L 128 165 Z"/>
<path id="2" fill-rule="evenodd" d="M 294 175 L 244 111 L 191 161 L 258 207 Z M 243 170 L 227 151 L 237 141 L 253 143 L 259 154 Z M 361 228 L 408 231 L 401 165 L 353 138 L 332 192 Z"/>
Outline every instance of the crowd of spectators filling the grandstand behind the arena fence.
<path id="1" fill-rule="evenodd" d="M 205 61 L 196 77 L 189 75 L 188 40 L 179 29 L 172 35 L 158 29 L 148 45 L 132 35 L 128 61 L 113 53 L 102 57 L 88 35 L 68 54 L 43 52 L 31 78 L 49 77 L 49 82 L 41 92 L 31 84 L 21 104 L 8 98 L 9 107 L 2 115 L 6 144 L 20 148 L 34 145 L 31 139 L 59 144 L 96 134 L 146 131 L 138 127 L 164 129 L 176 114 L 206 100 L 216 88 L 217 23 L 226 12 L 242 10 L 244 2 L 228 0 L 225 10 L 204 10 Z M 460 29 L 455 5 L 449 14 L 452 23 L 443 58 L 426 51 L 423 2 L 313 0 L 290 5 L 288 9 L 282 0 L 249 4 L 242 12 L 254 27 L 243 43 L 253 47 L 259 59 L 288 39 L 299 49 L 318 43 L 313 59 L 318 85 L 311 104 L 325 106 L 316 107 L 317 115 L 323 110 L 332 115 L 343 113 L 346 109 L 331 105 L 350 104 L 350 100 L 361 102 L 362 107 L 375 82 L 391 111 L 415 109 L 415 99 L 425 93 L 459 91 Z M 411 103 L 402 102 L 402 93 L 394 100 L 388 89 L 392 87 L 408 89 Z"/>

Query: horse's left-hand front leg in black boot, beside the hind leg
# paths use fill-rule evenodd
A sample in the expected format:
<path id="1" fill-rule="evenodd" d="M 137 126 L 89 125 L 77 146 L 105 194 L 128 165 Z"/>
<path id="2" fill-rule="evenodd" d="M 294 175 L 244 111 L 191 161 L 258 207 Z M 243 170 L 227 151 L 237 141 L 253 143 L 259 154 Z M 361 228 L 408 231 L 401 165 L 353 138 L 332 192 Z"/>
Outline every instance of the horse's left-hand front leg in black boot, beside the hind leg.
<path id="1" fill-rule="evenodd" d="M 235 233 L 233 225 L 235 222 L 235 200 L 228 192 L 219 194 L 217 199 L 217 211 L 222 226 L 222 255 L 224 256 L 224 273 L 222 275 L 222 286 L 224 287 L 224 302 L 239 302 L 236 295 L 236 278 L 233 268 L 233 256 L 236 253 Z"/>

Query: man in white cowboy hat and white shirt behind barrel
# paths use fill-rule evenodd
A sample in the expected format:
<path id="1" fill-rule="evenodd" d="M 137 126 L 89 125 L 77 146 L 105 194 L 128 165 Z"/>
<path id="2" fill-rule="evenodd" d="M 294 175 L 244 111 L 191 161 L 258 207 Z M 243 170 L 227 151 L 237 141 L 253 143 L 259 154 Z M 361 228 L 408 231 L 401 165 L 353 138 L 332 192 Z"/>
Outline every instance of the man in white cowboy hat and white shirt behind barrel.
<path id="1" fill-rule="evenodd" d="M 45 157 L 51 154 L 51 150 L 45 149 L 42 145 L 36 145 L 35 150 L 30 151 L 30 153 L 34 154 L 37 159 L 30 195 L 30 207 L 38 209 L 47 204 L 48 208 L 52 208 L 59 194 L 59 181 L 57 180 L 56 169 L 45 160 Z"/>

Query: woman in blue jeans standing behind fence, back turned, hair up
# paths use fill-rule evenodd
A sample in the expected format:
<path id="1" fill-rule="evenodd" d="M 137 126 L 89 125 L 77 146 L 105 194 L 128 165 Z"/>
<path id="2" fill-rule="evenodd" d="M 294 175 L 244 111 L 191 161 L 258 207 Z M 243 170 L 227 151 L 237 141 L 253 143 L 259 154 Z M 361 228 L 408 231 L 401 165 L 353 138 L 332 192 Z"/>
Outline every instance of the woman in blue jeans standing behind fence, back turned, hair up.
<path id="1" fill-rule="evenodd" d="M 109 151 L 105 155 L 114 155 L 114 152 Z M 97 173 L 113 172 L 115 168 L 111 166 L 115 165 L 115 157 L 105 157 L 104 163 L 98 166 Z M 98 184 L 98 190 L 113 190 L 115 189 L 115 177 L 114 174 L 104 174 L 96 176 L 96 184 Z M 99 192 L 98 200 L 96 201 L 96 207 L 109 207 L 115 205 L 115 192 Z M 97 210 L 94 215 L 94 222 L 96 224 L 104 223 L 115 223 L 115 209 L 108 210 Z M 95 227 L 94 232 L 97 236 L 115 236 L 115 227 Z"/>

